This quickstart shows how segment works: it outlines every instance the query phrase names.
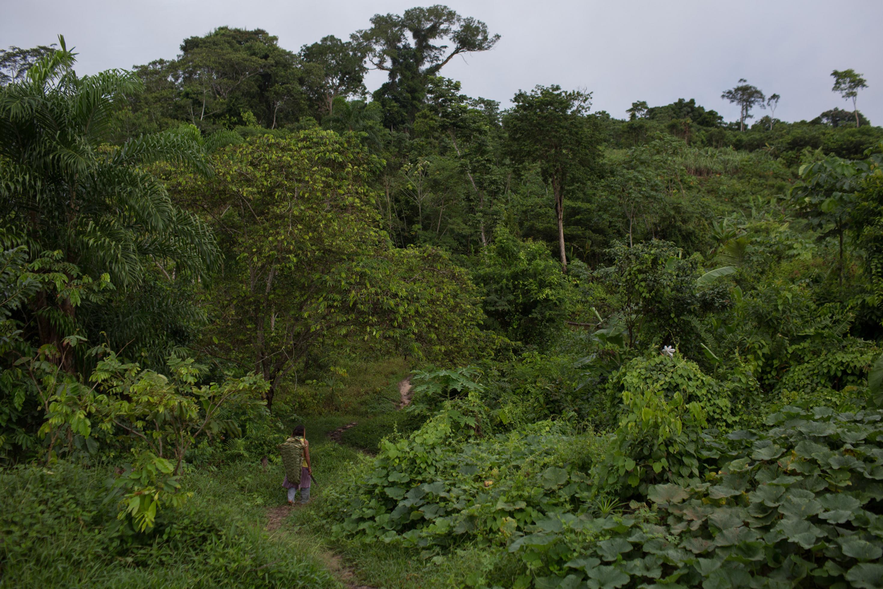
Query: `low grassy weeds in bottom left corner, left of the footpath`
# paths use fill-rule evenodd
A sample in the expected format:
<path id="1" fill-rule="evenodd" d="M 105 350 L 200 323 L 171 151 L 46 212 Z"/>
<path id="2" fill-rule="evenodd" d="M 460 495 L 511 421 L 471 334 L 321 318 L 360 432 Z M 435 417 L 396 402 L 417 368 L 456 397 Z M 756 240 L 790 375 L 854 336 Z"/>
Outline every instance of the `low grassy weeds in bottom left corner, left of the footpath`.
<path id="1" fill-rule="evenodd" d="M 268 540 L 262 510 L 230 480 L 184 480 L 194 492 L 153 533 L 117 519 L 109 469 L 59 462 L 0 472 L 3 585 L 336 587 L 327 570 Z"/>

